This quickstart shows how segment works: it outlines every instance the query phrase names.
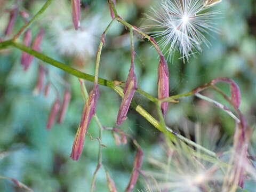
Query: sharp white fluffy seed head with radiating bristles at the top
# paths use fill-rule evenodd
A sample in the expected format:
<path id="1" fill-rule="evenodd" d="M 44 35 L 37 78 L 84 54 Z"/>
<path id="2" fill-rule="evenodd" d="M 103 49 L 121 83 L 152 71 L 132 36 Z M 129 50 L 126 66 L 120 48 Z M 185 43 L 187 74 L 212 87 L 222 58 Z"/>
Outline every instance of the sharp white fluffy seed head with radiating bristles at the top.
<path id="1" fill-rule="evenodd" d="M 149 32 L 158 41 L 163 51 L 170 57 L 179 51 L 181 58 L 188 60 L 190 55 L 202 52 L 202 44 L 210 45 L 205 34 L 217 31 L 213 18 L 218 11 L 209 11 L 204 0 L 162 0 L 161 8 L 152 8 L 153 14 L 147 18 L 154 24 L 146 28 L 157 28 Z"/>

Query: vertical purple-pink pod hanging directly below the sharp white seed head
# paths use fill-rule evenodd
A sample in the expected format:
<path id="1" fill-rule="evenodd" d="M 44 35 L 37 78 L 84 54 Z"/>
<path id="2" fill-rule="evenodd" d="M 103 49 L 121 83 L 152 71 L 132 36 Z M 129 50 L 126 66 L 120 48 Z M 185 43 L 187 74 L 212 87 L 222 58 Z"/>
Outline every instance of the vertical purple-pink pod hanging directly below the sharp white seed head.
<path id="1" fill-rule="evenodd" d="M 160 56 L 158 65 L 158 99 L 169 97 L 169 71 L 167 63 L 163 56 Z M 169 103 L 163 102 L 161 104 L 163 115 L 166 114 Z"/>

